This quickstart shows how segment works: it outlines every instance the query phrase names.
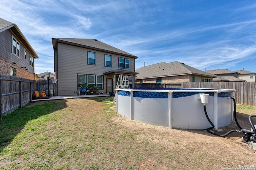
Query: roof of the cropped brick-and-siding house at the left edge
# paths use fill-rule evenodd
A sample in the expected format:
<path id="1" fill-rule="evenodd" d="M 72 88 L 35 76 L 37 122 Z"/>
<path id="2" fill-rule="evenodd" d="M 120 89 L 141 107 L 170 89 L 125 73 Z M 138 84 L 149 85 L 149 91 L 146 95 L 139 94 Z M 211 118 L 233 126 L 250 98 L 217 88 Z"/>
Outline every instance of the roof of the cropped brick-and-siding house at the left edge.
<path id="1" fill-rule="evenodd" d="M 0 32 L 3 32 L 7 29 L 10 29 L 10 31 L 12 31 L 12 33 L 14 33 L 14 35 L 21 41 L 21 43 L 25 46 L 25 48 L 30 51 L 30 53 L 32 53 L 32 55 L 34 56 L 34 58 L 39 59 L 38 55 L 36 54 L 36 51 L 34 51 L 34 49 L 32 48 L 32 46 L 30 45 L 30 43 L 28 43 L 28 40 L 26 39 L 26 37 L 23 35 L 23 33 L 20 31 L 19 27 L 9 21 L 6 21 L 2 18 L 0 18 Z"/>

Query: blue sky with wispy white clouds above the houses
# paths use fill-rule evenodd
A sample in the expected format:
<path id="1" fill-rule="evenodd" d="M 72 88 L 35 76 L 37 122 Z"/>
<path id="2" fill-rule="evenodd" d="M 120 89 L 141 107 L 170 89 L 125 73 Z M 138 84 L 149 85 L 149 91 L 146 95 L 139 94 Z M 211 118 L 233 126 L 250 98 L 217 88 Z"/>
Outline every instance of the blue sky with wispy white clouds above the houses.
<path id="1" fill-rule="evenodd" d="M 200 70 L 256 72 L 255 0 L 1 0 L 54 72 L 52 38 L 94 38 L 138 56 L 136 69 L 179 61 Z"/>

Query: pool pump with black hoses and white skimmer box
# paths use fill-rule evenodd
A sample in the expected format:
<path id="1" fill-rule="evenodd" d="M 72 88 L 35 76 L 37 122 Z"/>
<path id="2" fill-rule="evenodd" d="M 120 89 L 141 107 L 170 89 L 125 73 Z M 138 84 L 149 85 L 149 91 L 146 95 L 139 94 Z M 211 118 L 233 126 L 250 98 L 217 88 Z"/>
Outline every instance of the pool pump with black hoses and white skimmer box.
<path id="1" fill-rule="evenodd" d="M 206 118 L 209 121 L 209 123 L 212 125 L 212 127 L 209 127 L 207 129 L 207 131 L 209 133 L 211 133 L 213 135 L 217 135 L 219 137 L 225 137 L 225 136 L 229 135 L 232 132 L 242 133 L 242 136 L 243 136 L 242 142 L 247 143 L 248 147 L 250 149 L 256 150 L 256 125 L 254 125 L 253 122 L 252 122 L 252 117 L 256 117 L 256 115 L 250 115 L 249 118 L 248 118 L 252 128 L 250 130 L 242 129 L 242 127 L 239 125 L 239 123 L 236 119 L 236 100 L 234 98 L 228 97 L 228 98 L 232 99 L 233 102 L 234 102 L 234 118 L 235 118 L 236 125 L 239 127 L 240 130 L 231 130 L 228 133 L 225 133 L 223 135 L 213 133 L 212 131 L 210 131 L 210 129 L 214 129 L 214 124 L 212 123 L 212 121 L 208 117 L 208 114 L 207 114 L 207 111 L 206 111 L 206 104 L 208 104 L 208 96 L 209 96 L 209 94 L 198 94 L 198 99 L 201 100 L 201 103 L 204 105 L 204 113 L 206 115 Z"/>

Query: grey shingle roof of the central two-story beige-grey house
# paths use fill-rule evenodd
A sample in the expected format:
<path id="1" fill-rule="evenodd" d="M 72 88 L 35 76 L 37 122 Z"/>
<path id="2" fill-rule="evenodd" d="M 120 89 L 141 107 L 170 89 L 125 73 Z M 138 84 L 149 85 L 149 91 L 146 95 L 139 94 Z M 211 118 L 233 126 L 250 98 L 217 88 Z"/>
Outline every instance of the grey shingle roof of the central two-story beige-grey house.
<path id="1" fill-rule="evenodd" d="M 118 54 L 118 55 L 123 55 L 127 57 L 132 57 L 137 59 L 138 57 L 135 55 L 132 55 L 130 53 L 127 53 L 125 51 L 122 51 L 120 49 L 117 49 L 111 45 L 108 45 L 106 43 L 102 43 L 101 41 L 98 41 L 97 39 L 80 39 L 80 38 L 52 38 L 52 45 L 53 48 L 56 49 L 57 47 L 57 42 L 60 43 L 65 43 L 69 45 L 75 45 L 78 47 L 84 47 L 88 49 L 94 49 L 98 51 L 104 51 L 107 53 L 112 53 L 112 54 Z"/>

